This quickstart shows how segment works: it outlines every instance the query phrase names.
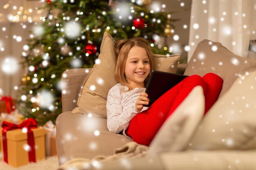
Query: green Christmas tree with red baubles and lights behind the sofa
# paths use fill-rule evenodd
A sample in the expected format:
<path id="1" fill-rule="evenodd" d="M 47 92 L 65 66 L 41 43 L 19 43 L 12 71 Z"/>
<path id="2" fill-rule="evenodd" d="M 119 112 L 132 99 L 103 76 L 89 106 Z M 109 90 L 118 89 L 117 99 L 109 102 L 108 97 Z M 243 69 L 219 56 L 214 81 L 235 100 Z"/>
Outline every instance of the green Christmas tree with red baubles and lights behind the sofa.
<path id="1" fill-rule="evenodd" d="M 164 11 L 164 4 L 151 0 L 47 0 L 42 8 L 48 13 L 34 26 L 29 53 L 22 53 L 22 64 L 29 70 L 21 80 L 18 106 L 25 117 L 40 125 L 55 122 L 62 112 L 63 71 L 93 67 L 104 31 L 115 40 L 143 37 L 154 53 L 171 54 L 166 46 L 157 45 L 160 36 L 171 36 L 174 28 L 175 20 Z"/>

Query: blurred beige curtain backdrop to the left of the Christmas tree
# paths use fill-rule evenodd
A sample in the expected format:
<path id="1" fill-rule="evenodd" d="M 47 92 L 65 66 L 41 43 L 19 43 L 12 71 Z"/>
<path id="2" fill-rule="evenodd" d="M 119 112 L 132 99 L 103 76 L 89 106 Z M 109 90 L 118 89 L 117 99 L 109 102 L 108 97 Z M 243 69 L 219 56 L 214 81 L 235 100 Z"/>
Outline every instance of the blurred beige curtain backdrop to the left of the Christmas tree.
<path id="1" fill-rule="evenodd" d="M 9 6 L 4 8 L 6 4 Z M 41 5 L 43 3 L 40 3 L 39 0 L 0 0 L 0 96 L 11 95 L 13 98 L 18 97 L 18 91 L 14 90 L 14 86 L 20 85 L 20 79 L 27 73 L 27 68 L 20 66 L 16 73 L 9 75 L 2 71 L 2 63 L 7 57 L 15 58 L 18 62 L 23 61 L 21 55 L 24 51 L 23 46 L 27 44 L 26 40 L 30 35 L 29 30 L 34 26 L 34 22 L 40 23 L 40 16 L 45 16 L 47 12 L 37 13 L 36 8 Z M 16 8 L 13 8 L 14 6 Z M 20 7 L 23 7 L 23 9 L 21 10 Z M 30 13 L 29 9 L 33 9 L 33 11 Z M 17 15 L 19 10 L 22 11 L 19 21 L 13 22 L 10 16 Z M 30 23 L 27 20 L 23 20 L 23 15 L 31 16 L 33 22 Z M 20 36 L 22 40 L 17 41 L 13 38 L 14 35 Z"/>

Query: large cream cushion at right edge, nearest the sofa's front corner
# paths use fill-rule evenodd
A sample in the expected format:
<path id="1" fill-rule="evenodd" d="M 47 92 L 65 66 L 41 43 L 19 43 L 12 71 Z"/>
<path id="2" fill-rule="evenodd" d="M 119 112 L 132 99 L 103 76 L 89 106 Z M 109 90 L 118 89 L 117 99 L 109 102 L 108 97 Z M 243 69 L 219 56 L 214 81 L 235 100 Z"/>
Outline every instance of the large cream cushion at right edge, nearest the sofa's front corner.
<path id="1" fill-rule="evenodd" d="M 238 78 L 218 99 L 204 117 L 189 148 L 256 148 L 256 71 Z"/>

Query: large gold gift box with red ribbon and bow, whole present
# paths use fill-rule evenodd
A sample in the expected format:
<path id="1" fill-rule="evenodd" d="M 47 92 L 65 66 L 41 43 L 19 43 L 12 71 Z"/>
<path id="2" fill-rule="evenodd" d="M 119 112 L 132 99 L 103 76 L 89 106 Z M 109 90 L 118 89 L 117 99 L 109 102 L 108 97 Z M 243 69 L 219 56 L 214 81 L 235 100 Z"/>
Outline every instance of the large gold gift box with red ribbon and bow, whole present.
<path id="1" fill-rule="evenodd" d="M 19 167 L 45 159 L 45 130 L 37 128 L 35 119 L 19 125 L 4 121 L 0 130 L 2 158 L 9 165 Z"/>

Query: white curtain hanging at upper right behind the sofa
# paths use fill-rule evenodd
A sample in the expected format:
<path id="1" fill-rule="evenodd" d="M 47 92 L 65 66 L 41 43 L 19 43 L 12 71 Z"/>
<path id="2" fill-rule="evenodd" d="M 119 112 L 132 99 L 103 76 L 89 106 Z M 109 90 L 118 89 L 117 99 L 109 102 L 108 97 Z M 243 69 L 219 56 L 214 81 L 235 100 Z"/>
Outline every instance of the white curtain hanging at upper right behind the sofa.
<path id="1" fill-rule="evenodd" d="M 256 0 L 193 0 L 188 62 L 204 39 L 220 42 L 236 55 L 247 57 L 255 31 Z"/>

